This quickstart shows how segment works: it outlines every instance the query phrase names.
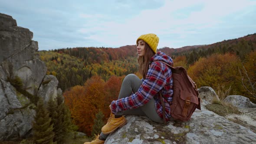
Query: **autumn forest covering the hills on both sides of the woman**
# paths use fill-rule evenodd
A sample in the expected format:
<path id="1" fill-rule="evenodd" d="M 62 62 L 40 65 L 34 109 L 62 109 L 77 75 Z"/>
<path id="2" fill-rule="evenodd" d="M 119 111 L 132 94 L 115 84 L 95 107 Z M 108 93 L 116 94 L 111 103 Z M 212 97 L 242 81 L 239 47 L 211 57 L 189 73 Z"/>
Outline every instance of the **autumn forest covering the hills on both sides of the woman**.
<path id="1" fill-rule="evenodd" d="M 183 66 L 197 87 L 230 89 L 230 95 L 243 95 L 256 103 L 256 33 L 210 45 L 164 47 L 174 59 L 174 66 Z M 96 114 L 103 114 L 118 98 L 125 75 L 138 73 L 136 46 L 119 48 L 77 47 L 39 51 L 46 63 L 47 74 L 59 80 L 72 122 L 79 131 L 95 134 Z"/>

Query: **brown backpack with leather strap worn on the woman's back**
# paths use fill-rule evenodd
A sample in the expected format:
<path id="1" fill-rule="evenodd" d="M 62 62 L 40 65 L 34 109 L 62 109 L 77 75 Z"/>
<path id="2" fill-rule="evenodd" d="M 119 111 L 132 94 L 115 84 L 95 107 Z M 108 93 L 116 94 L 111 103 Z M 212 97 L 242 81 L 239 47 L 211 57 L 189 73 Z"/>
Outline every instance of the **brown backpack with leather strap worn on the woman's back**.
<path id="1" fill-rule="evenodd" d="M 162 61 L 154 61 L 162 62 Z M 162 62 L 171 68 L 173 76 L 173 99 L 171 102 L 171 117 L 174 120 L 188 121 L 193 112 L 197 109 L 201 110 L 200 95 L 197 91 L 196 83 L 187 75 L 186 69 L 181 66 L 172 67 L 166 62 Z M 164 123 L 165 119 L 165 105 L 163 96 L 160 93 L 161 103 L 163 106 Z"/>

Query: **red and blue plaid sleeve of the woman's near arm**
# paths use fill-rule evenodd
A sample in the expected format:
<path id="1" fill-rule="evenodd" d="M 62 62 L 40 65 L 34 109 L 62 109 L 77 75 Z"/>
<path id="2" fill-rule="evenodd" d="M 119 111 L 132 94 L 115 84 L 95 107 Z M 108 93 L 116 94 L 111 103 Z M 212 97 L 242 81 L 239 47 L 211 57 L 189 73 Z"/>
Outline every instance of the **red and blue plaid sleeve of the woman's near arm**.
<path id="1" fill-rule="evenodd" d="M 146 79 L 138 89 L 138 92 L 126 98 L 121 98 L 111 103 L 111 111 L 115 114 L 118 111 L 138 108 L 145 105 L 156 95 L 166 84 L 164 70 L 161 66 L 152 63 L 148 69 Z"/>

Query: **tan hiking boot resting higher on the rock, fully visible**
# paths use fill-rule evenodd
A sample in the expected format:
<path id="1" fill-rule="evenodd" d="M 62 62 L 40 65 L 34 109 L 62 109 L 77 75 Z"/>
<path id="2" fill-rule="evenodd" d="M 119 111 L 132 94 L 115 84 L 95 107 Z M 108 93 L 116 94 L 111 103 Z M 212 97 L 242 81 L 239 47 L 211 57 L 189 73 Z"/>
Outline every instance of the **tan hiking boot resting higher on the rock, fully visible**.
<path id="1" fill-rule="evenodd" d="M 124 116 L 122 116 L 121 118 L 115 118 L 115 115 L 113 113 L 110 113 L 107 124 L 102 127 L 102 133 L 110 134 L 117 128 L 121 128 L 122 126 L 124 126 L 126 123 L 127 122 Z"/>

